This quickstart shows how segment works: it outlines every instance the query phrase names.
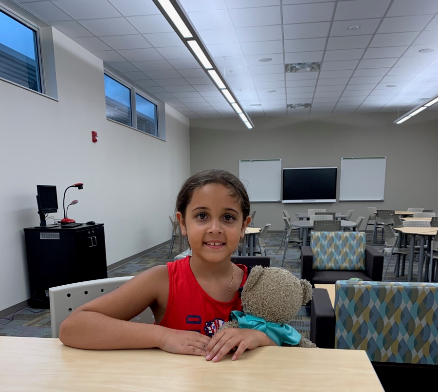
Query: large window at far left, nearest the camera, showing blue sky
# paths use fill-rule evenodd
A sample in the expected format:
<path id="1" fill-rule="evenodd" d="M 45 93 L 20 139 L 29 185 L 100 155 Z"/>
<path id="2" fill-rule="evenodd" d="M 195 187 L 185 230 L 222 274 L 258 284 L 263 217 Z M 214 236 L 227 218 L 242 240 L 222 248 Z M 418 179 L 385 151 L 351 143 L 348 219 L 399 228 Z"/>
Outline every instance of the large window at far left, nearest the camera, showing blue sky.
<path id="1" fill-rule="evenodd" d="M 37 31 L 0 11 L 0 78 L 41 93 Z"/>

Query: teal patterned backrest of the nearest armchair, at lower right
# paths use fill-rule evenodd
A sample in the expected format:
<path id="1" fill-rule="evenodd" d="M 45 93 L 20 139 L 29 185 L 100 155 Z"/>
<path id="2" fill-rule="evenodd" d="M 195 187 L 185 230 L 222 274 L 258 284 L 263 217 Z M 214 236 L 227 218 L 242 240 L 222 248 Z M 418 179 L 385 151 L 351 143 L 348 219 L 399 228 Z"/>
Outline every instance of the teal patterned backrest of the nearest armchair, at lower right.
<path id="1" fill-rule="evenodd" d="M 438 365 L 438 283 L 338 280 L 335 348 L 371 361 Z"/>

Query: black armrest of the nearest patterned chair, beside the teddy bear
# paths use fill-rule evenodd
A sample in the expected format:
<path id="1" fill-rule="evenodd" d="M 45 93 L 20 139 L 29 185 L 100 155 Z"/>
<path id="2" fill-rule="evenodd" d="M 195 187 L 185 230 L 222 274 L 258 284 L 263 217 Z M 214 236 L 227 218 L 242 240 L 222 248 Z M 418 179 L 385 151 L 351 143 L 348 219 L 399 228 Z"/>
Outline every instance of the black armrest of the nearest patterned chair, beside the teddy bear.
<path id="1" fill-rule="evenodd" d="M 326 289 L 313 289 L 310 340 L 320 349 L 334 349 L 335 316 Z"/>

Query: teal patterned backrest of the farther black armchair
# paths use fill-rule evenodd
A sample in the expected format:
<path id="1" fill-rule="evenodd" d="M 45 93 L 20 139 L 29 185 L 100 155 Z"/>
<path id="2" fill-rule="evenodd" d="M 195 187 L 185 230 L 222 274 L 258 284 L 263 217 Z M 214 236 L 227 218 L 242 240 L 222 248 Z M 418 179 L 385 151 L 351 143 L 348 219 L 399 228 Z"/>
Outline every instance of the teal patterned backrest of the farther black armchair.
<path id="1" fill-rule="evenodd" d="M 312 232 L 313 270 L 365 270 L 365 233 Z"/>

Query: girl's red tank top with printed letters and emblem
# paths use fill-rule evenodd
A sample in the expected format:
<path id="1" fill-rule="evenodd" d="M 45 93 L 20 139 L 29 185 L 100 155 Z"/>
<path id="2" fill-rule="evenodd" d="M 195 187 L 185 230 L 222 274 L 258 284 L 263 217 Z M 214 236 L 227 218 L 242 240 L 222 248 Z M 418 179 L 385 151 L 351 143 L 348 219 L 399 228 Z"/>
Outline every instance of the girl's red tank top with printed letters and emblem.
<path id="1" fill-rule="evenodd" d="M 242 311 L 238 290 L 229 302 L 221 302 L 208 295 L 198 283 L 190 268 L 190 256 L 167 263 L 169 297 L 166 312 L 160 324 L 182 331 L 196 331 L 213 336 L 229 320 L 231 311 Z M 243 272 L 240 287 L 246 282 L 246 266 L 236 264 Z"/>

